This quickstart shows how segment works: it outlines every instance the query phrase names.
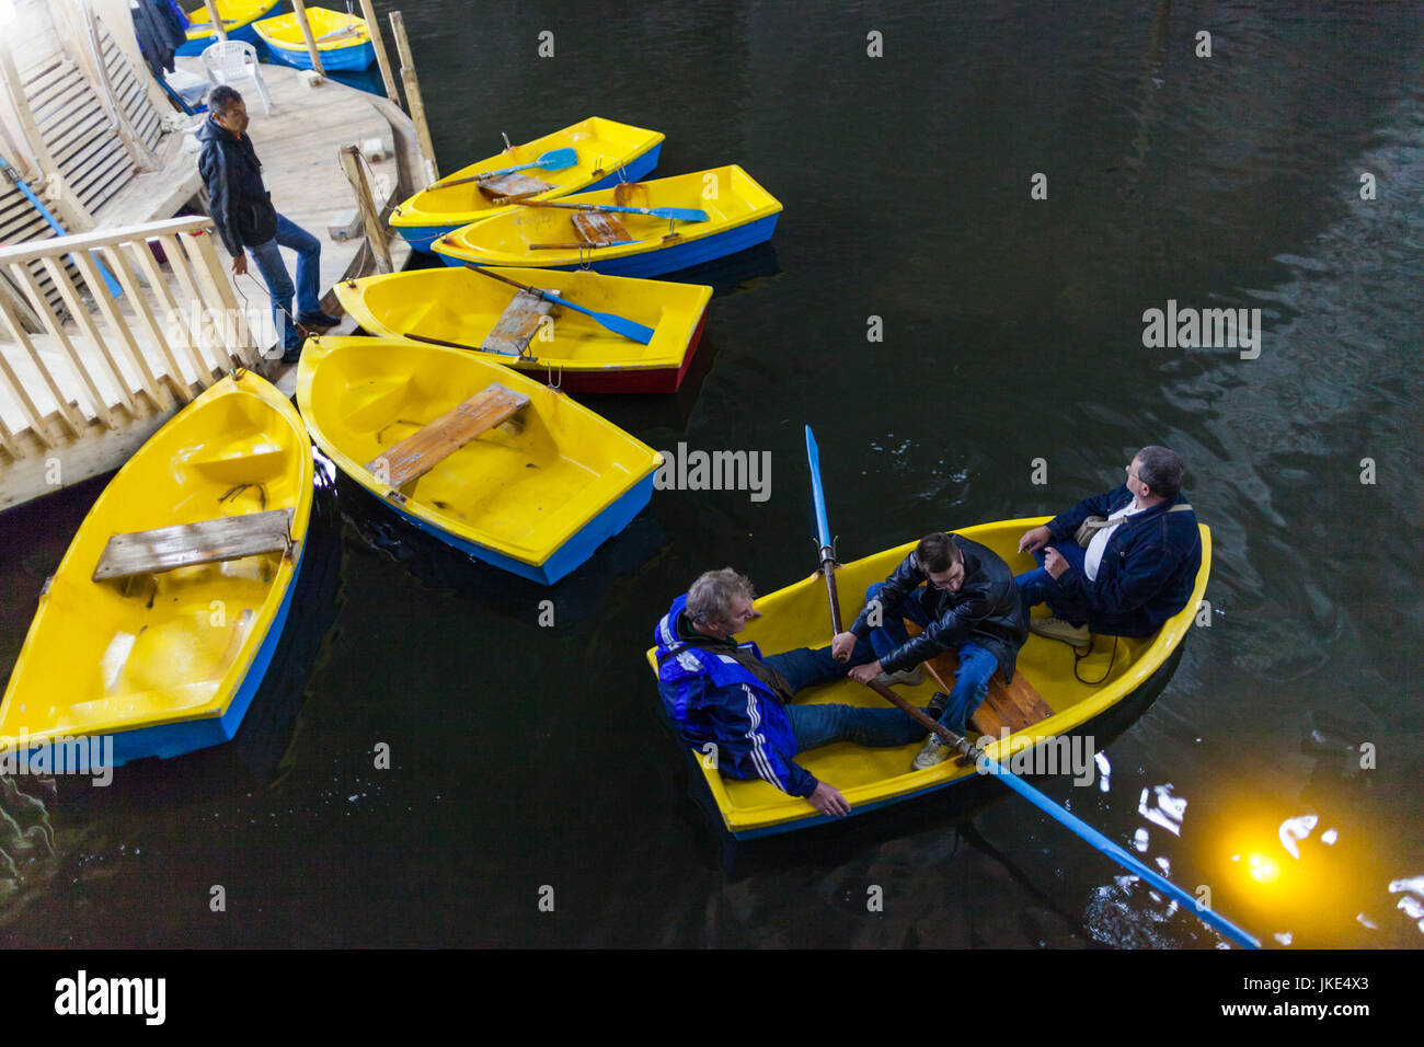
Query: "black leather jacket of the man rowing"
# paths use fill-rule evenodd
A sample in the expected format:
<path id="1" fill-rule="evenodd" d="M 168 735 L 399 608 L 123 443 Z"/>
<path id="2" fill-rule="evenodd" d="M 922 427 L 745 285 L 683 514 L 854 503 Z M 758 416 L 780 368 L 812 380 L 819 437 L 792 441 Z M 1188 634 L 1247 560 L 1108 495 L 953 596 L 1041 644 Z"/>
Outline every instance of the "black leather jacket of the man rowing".
<path id="1" fill-rule="evenodd" d="M 1028 640 L 1028 621 L 1024 605 L 1014 584 L 1014 574 L 997 553 L 977 541 L 958 534 L 950 536 L 964 554 L 964 584 L 958 593 L 937 590 L 927 585 L 916 598 L 921 600 L 933 621 L 910 642 L 897 647 L 889 657 L 880 660 L 886 672 L 910 670 L 937 654 L 957 648 L 965 640 L 980 644 L 998 660 L 998 671 L 1007 684 L 1014 678 L 1014 662 L 1018 648 Z M 884 621 L 900 615 L 900 605 L 930 575 L 920 570 L 911 551 L 894 568 L 880 590 L 880 607 Z M 869 607 L 860 611 L 850 631 L 863 640 L 870 635 L 866 623 Z"/>

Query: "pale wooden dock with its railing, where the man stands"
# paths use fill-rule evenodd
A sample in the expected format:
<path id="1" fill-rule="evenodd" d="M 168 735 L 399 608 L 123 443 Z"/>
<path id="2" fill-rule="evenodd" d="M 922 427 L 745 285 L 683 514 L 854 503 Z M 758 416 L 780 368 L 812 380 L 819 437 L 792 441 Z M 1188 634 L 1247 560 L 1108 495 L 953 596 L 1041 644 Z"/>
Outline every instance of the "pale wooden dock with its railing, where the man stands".
<path id="1" fill-rule="evenodd" d="M 179 58 L 179 66 L 202 74 L 197 58 Z M 47 70 L 51 80 L 57 68 Z M 33 70 L 17 73 L 24 81 Z M 383 142 L 386 155 L 369 162 L 367 179 L 384 212 L 424 184 L 414 124 L 394 103 L 335 81 L 310 87 L 298 70 L 275 64 L 263 64 L 261 74 L 271 113 L 263 113 L 251 83 L 235 84 L 248 100 L 248 134 L 278 211 L 322 242 L 322 303 L 337 312 L 333 285 L 375 271 L 363 232 L 346 241 L 328 235 L 342 211 L 356 208 L 339 150 Z M 93 254 L 56 251 L 47 238 L 11 239 L 11 246 L 0 248 L 0 510 L 122 464 L 231 366 L 252 366 L 279 386 L 292 385 L 295 368 L 272 360 L 279 348 L 258 345 L 261 325 L 246 322 L 271 309 L 251 258 L 249 275 L 234 278 L 231 259 L 211 232 L 177 235 L 158 221 L 189 201 L 206 205 L 192 138 L 204 120 L 169 120 L 179 125 L 145 147 L 154 170 L 135 167 L 85 215 L 94 225 L 78 238 Z M 152 135 L 154 128 L 144 127 Z M 14 194 L 10 187 L 0 205 Z M 13 212 L 23 215 L 26 207 L 19 201 Z M 157 235 L 162 238 L 155 241 L 155 261 L 148 241 Z M 400 236 L 389 236 L 387 249 L 396 268 L 409 258 Z M 295 255 L 283 256 L 295 278 Z M 117 274 L 125 293 L 108 293 L 98 265 Z M 228 330 L 204 326 L 206 311 L 228 316 Z M 234 319 L 232 312 L 242 315 Z"/>

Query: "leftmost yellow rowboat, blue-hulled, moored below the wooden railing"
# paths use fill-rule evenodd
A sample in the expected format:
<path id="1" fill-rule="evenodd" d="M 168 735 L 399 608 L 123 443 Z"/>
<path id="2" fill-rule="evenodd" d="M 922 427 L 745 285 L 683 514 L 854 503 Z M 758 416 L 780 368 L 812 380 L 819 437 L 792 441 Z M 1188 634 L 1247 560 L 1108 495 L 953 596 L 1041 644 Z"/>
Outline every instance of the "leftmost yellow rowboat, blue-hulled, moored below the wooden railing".
<path id="1" fill-rule="evenodd" d="M 46 584 L 0 751 L 112 736 L 118 765 L 231 739 L 282 635 L 310 511 L 312 444 L 286 397 L 251 372 L 204 392 L 118 470 Z"/>

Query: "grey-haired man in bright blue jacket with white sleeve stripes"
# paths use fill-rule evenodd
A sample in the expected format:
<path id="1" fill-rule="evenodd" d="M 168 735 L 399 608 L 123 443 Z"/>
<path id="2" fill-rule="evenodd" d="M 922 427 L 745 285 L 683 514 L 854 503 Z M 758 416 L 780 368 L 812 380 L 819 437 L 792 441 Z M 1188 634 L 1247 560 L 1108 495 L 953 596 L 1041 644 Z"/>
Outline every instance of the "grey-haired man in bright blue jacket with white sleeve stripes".
<path id="1" fill-rule="evenodd" d="M 840 679 L 852 667 L 873 661 L 874 652 L 860 642 L 847 661 L 836 661 L 829 647 L 763 658 L 756 644 L 733 640 L 762 615 L 752 608 L 755 598 L 752 583 L 725 567 L 708 571 L 672 601 L 654 634 L 664 708 L 685 742 L 699 751 L 708 742 L 716 746 L 723 775 L 762 778 L 805 796 L 823 815 L 844 818 L 850 813 L 846 798 L 792 758 L 840 741 L 909 745 L 924 736 L 924 728 L 893 708 L 793 704 L 797 691 Z M 943 709 L 927 712 L 938 718 Z"/>

